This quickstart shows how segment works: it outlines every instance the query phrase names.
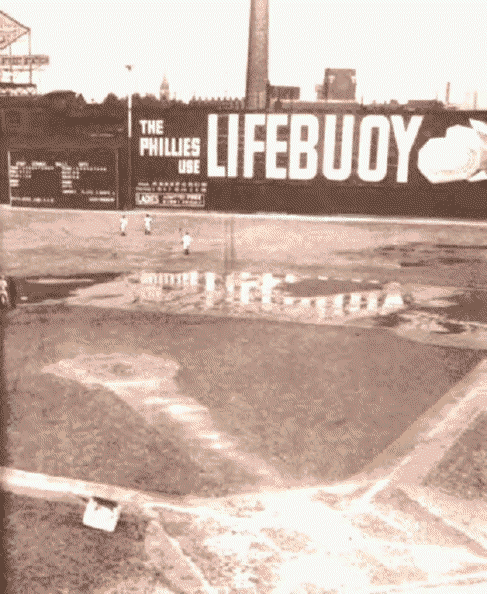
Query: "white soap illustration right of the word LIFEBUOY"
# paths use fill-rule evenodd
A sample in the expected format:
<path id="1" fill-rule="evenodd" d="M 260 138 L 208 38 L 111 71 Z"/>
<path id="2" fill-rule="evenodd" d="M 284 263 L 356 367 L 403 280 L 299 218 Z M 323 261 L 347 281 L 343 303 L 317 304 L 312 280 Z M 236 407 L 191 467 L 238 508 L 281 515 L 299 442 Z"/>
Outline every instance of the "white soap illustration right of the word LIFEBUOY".
<path id="1" fill-rule="evenodd" d="M 418 153 L 418 169 L 433 184 L 487 180 L 487 124 L 470 120 L 431 138 Z"/>

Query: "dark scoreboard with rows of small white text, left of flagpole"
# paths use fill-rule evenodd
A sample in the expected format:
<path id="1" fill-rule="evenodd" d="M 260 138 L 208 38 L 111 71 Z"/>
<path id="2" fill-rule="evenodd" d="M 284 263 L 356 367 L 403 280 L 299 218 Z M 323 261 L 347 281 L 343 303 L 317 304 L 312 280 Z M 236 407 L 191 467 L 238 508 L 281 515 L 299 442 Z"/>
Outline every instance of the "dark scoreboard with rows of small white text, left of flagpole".
<path id="1" fill-rule="evenodd" d="M 8 157 L 12 206 L 117 207 L 116 151 L 18 149 Z"/>

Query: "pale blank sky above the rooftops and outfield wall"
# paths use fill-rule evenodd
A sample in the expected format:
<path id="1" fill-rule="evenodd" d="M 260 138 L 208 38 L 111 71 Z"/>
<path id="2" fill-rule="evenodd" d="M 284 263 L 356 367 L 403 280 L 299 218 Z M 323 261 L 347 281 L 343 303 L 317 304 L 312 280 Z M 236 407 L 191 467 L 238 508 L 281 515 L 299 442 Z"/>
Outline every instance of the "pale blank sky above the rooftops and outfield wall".
<path id="1" fill-rule="evenodd" d="M 250 0 L 3 0 L 0 10 L 50 57 L 34 74 L 41 93 L 158 95 L 166 75 L 185 101 L 245 94 Z M 485 0 L 269 0 L 269 19 L 270 82 L 299 86 L 302 99 L 316 98 L 325 68 L 355 68 L 366 103 L 444 100 L 450 82 L 452 102 L 477 91 L 487 108 Z M 27 52 L 24 36 L 12 53 Z"/>

